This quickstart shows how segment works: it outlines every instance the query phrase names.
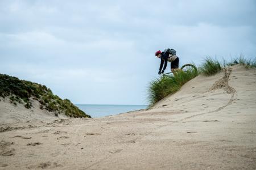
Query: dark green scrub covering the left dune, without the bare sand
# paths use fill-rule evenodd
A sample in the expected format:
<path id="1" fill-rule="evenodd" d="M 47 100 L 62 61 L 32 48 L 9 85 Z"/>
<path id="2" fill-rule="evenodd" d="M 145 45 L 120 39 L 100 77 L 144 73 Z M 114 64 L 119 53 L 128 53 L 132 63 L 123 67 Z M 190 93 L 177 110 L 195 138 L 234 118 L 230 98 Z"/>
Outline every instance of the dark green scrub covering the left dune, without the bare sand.
<path id="1" fill-rule="evenodd" d="M 69 117 L 90 117 L 71 103 L 68 99 L 60 99 L 44 85 L 20 80 L 14 76 L 0 74 L 0 96 L 9 97 L 14 106 L 23 104 L 27 109 L 32 107 L 31 99 L 38 100 L 40 109 L 55 112 L 55 115 L 64 113 Z"/>

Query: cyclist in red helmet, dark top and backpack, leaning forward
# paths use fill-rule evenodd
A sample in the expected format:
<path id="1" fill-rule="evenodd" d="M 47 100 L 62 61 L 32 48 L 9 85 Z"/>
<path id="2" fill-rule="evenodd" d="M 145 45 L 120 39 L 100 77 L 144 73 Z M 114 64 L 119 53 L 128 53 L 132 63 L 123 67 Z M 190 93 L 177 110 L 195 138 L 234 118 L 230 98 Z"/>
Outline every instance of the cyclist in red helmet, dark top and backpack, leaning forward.
<path id="1" fill-rule="evenodd" d="M 160 50 L 158 50 L 157 52 L 155 52 L 155 56 L 161 59 L 158 74 L 164 73 L 164 70 L 166 70 L 168 61 L 171 62 L 172 73 L 174 73 L 176 69 L 179 69 L 179 57 L 176 56 L 176 51 L 174 50 L 174 52 L 172 52 L 172 50 L 174 49 L 166 49 L 164 50 L 164 52 L 161 52 Z"/>

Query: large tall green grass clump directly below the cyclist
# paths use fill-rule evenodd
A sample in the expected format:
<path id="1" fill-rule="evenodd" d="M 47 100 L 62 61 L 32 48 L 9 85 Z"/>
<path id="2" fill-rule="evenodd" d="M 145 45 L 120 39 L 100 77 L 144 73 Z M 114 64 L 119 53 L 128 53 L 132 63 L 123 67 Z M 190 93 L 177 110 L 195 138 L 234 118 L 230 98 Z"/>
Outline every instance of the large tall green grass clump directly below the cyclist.
<path id="1" fill-rule="evenodd" d="M 164 75 L 150 82 L 148 87 L 149 107 L 156 102 L 179 91 L 181 86 L 198 75 L 196 70 L 179 70 L 175 75 Z"/>

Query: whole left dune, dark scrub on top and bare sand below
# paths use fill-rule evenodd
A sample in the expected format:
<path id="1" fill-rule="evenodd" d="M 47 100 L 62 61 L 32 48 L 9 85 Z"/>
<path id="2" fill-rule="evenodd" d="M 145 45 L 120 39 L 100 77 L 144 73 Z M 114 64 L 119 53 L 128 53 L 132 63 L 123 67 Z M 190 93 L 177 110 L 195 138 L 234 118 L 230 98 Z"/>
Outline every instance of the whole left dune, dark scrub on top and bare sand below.
<path id="1" fill-rule="evenodd" d="M 90 117 L 46 86 L 6 74 L 0 74 L 0 113 L 0 122 Z"/>

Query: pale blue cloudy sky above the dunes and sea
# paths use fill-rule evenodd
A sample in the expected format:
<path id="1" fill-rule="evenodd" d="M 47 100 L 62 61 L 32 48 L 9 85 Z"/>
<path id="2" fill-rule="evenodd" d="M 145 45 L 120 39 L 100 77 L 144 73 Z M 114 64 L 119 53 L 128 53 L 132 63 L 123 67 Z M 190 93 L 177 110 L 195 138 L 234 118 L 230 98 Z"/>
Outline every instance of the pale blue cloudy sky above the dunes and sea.
<path id="1" fill-rule="evenodd" d="M 0 73 L 75 104 L 148 104 L 166 48 L 180 66 L 256 57 L 256 1 L 0 1 Z"/>

